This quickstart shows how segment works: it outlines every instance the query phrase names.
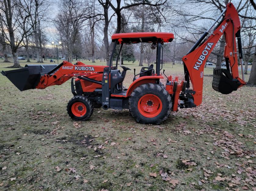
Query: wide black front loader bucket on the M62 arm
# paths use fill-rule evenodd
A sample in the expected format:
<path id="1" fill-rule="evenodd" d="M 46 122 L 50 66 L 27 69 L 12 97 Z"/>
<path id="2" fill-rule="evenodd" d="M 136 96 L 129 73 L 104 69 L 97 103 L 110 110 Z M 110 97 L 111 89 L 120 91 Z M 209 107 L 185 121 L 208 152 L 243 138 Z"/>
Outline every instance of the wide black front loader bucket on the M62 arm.
<path id="1" fill-rule="evenodd" d="M 2 71 L 1 73 L 6 76 L 20 91 L 34 89 L 40 77 L 50 72 L 57 64 L 47 65 L 26 65 L 24 68 Z"/>

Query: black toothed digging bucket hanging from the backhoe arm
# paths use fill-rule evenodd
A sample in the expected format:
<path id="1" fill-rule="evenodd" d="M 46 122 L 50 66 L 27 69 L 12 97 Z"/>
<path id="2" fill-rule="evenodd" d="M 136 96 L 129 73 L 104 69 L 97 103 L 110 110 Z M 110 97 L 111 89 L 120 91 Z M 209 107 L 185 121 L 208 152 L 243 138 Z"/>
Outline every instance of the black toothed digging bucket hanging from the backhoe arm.
<path id="1" fill-rule="evenodd" d="M 213 69 L 212 88 L 222 94 L 230 94 L 236 91 L 241 83 L 234 79 L 227 69 Z"/>

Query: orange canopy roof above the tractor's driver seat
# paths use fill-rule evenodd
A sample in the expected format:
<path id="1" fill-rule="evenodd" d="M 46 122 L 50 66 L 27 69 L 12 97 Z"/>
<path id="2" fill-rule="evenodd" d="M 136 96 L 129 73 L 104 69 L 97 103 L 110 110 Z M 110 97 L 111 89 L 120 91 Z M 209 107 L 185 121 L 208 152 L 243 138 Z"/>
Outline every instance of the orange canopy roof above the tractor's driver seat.
<path id="1" fill-rule="evenodd" d="M 111 39 L 112 41 L 118 39 L 119 43 L 152 43 L 161 39 L 163 43 L 168 43 L 174 39 L 174 34 L 170 32 L 117 33 L 113 34 Z"/>

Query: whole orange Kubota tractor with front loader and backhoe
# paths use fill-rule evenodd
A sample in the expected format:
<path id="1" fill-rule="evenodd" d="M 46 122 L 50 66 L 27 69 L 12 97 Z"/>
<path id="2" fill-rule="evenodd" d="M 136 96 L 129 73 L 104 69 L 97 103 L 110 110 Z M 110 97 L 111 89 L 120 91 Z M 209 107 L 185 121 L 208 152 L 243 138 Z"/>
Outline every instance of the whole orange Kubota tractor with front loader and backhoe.
<path id="1" fill-rule="evenodd" d="M 209 33 L 214 26 L 215 28 Z M 240 27 L 238 13 L 233 4 L 229 3 L 218 19 L 182 58 L 185 80 L 180 82 L 178 77 L 165 76 L 163 70 L 167 82 L 160 83 L 160 79 L 164 78 L 160 74 L 163 67 L 162 45 L 174 39 L 174 35 L 167 32 L 114 34 L 112 36 L 114 49 L 109 66 L 87 65 L 82 62 L 72 64 L 63 61 L 59 65 L 26 65 L 22 69 L 1 73 L 21 91 L 61 85 L 72 78 L 71 91 L 74 97 L 67 104 L 67 113 L 77 121 L 90 118 L 94 107 L 103 107 L 104 110 L 129 109 L 132 116 L 140 123 L 160 124 L 168 118 L 171 111 L 177 111 L 178 107 L 189 108 L 201 104 L 204 65 L 222 35 L 225 35 L 226 40 L 224 52 L 226 69 L 214 69 L 212 87 L 222 94 L 230 94 L 246 84 L 244 77 L 240 79 L 238 74 L 238 56 L 242 63 Z M 236 50 L 236 38 L 239 55 Z M 131 69 L 120 66 L 123 69 L 120 72 L 117 63 L 123 44 L 131 43 L 152 43 L 151 47 L 157 49 L 156 67 L 154 68 L 153 64 L 150 67 L 142 67 L 138 74 L 135 74 L 134 69 L 133 82 L 126 89 L 123 87 L 123 81 L 127 70 Z M 116 65 L 113 66 L 112 59 L 117 44 L 121 46 Z M 243 64 L 241 70 L 243 75 Z"/>

